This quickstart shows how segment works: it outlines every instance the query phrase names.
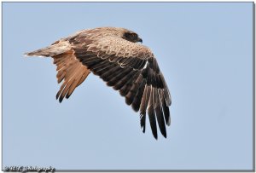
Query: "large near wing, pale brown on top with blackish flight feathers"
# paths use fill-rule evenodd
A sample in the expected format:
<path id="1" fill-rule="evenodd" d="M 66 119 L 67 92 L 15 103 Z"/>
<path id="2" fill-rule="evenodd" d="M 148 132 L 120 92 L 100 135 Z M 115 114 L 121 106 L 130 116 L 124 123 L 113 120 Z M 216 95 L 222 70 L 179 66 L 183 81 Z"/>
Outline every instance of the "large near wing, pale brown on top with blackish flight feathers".
<path id="1" fill-rule="evenodd" d="M 136 112 L 140 111 L 143 132 L 148 112 L 154 137 L 157 139 L 156 119 L 161 134 L 166 137 L 166 124 L 171 123 L 171 95 L 150 49 L 120 37 L 102 37 L 96 41 L 73 37 L 69 41 L 74 55 L 84 66 L 108 86 L 119 90 Z"/>

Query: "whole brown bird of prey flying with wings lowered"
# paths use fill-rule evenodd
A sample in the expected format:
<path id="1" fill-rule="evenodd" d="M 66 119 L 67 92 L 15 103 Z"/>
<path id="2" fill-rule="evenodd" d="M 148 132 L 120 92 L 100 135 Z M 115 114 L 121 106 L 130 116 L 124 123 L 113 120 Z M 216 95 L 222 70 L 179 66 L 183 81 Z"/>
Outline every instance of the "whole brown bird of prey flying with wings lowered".
<path id="1" fill-rule="evenodd" d="M 69 98 L 90 72 L 99 76 L 108 86 L 119 90 L 127 105 L 140 112 L 143 133 L 148 114 L 157 139 L 157 123 L 166 137 L 172 101 L 153 53 L 142 42 L 136 32 L 125 28 L 98 27 L 76 32 L 25 55 L 54 59 L 58 83 L 63 81 L 56 95 L 60 102 Z"/>

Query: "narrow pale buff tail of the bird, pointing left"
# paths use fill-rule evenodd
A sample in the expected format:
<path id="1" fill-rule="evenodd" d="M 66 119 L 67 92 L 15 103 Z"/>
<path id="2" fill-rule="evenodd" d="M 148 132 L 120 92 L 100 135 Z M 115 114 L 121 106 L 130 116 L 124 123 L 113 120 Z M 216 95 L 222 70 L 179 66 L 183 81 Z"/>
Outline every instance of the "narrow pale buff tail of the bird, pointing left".
<path id="1" fill-rule="evenodd" d="M 50 45 L 43 49 L 38 49 L 32 52 L 25 53 L 25 56 L 44 56 L 50 57 L 54 55 L 60 55 L 71 49 L 70 43 L 68 42 L 59 42 L 53 45 Z"/>

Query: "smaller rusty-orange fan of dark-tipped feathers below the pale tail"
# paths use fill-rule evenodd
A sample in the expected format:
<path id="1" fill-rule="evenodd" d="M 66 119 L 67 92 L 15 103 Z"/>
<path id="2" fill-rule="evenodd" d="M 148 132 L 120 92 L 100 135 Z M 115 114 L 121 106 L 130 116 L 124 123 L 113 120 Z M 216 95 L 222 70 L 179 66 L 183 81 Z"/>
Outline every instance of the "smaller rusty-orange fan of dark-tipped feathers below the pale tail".
<path id="1" fill-rule="evenodd" d="M 90 73 L 90 70 L 84 66 L 73 55 L 73 50 L 70 49 L 60 55 L 52 56 L 54 64 L 57 66 L 57 79 L 61 84 L 61 88 L 56 95 L 56 99 L 61 102 L 64 97 L 69 98 L 72 95 L 73 90 L 84 82 L 84 79 Z"/>

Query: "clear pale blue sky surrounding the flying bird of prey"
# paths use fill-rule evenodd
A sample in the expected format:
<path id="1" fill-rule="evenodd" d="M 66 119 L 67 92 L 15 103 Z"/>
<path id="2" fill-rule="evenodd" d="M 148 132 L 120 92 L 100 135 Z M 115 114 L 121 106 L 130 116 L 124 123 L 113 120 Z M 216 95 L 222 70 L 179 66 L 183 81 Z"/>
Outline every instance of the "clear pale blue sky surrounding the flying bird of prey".
<path id="1" fill-rule="evenodd" d="M 90 74 L 55 100 L 51 58 L 81 29 L 137 32 L 172 95 L 167 139 Z M 147 118 L 148 121 L 148 118 Z M 253 3 L 3 3 L 3 166 L 57 170 L 252 170 Z"/>

